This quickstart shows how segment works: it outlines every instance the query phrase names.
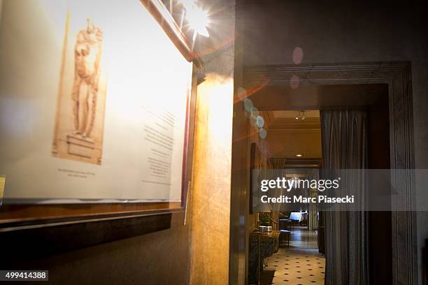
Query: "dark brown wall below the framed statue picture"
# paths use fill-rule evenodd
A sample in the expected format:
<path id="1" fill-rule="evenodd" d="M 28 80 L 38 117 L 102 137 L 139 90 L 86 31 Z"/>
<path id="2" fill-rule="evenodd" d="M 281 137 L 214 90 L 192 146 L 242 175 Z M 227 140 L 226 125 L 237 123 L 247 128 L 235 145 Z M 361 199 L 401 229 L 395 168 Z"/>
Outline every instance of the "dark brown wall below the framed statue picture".
<path id="1" fill-rule="evenodd" d="M 183 217 L 173 214 L 168 230 L 28 261 L 20 268 L 48 269 L 50 284 L 186 285 L 189 226 L 183 226 Z"/>

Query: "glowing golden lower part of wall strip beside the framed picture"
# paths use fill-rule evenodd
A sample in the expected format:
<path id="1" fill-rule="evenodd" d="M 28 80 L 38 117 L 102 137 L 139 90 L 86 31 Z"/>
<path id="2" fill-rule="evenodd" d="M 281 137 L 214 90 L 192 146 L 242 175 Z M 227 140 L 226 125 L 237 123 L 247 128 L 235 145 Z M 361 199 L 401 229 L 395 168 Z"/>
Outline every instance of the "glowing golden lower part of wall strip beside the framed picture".
<path id="1" fill-rule="evenodd" d="M 191 265 L 191 284 L 204 283 L 206 276 L 214 276 L 211 283 L 227 284 L 233 96 L 233 78 L 215 73 L 197 88 L 191 254 L 198 262 Z M 201 274 L 199 264 L 208 263 L 221 266 Z"/>

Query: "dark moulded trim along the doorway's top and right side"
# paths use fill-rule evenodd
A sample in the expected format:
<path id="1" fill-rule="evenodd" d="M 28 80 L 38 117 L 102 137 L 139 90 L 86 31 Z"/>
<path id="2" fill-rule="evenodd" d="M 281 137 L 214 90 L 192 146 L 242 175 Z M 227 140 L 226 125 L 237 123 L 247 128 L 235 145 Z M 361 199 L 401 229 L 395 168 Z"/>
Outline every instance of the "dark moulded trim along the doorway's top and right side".
<path id="1" fill-rule="evenodd" d="M 254 86 L 290 86 L 292 76 L 299 85 L 387 84 L 390 101 L 391 168 L 414 169 L 413 106 L 411 64 L 409 61 L 312 64 L 302 66 L 248 66 L 243 71 L 246 89 Z M 236 110 L 238 113 L 239 111 Z M 232 146 L 232 152 L 238 145 Z M 415 220 L 415 177 L 408 171 L 396 180 L 399 191 L 392 198 L 392 280 L 393 284 L 418 284 L 417 240 Z M 232 184 L 240 177 L 232 173 Z M 233 205 L 232 205 L 233 207 Z M 406 211 L 399 211 L 406 209 Z M 238 221 L 231 221 L 237 223 Z M 233 228 L 231 228 L 233 229 Z M 231 235 L 238 233 L 231 232 Z M 245 237 L 240 237 L 241 239 Z M 246 241 L 241 241 L 245 244 Z"/>

